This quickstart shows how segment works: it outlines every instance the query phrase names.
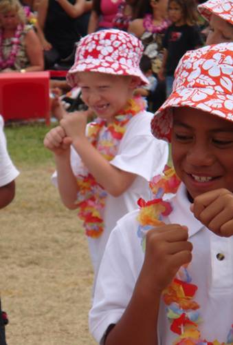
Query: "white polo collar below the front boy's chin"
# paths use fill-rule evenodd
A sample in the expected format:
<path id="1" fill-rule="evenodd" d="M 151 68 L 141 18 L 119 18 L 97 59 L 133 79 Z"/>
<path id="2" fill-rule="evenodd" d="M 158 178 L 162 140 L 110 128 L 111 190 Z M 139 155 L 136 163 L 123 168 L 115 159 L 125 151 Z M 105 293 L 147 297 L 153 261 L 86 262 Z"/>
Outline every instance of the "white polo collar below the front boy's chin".
<path id="1" fill-rule="evenodd" d="M 188 237 L 195 235 L 203 224 L 190 211 L 191 203 L 188 200 L 186 186 L 181 183 L 177 194 L 171 199 L 172 213 L 168 216 L 171 224 L 181 224 L 188 227 Z"/>

